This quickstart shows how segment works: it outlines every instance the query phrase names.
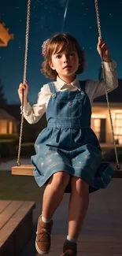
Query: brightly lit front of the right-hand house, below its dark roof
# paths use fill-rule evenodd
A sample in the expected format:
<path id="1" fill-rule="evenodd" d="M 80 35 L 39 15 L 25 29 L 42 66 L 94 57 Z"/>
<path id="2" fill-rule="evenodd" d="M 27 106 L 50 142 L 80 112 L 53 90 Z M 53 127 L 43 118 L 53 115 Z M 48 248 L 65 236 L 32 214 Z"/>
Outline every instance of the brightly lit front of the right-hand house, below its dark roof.
<path id="1" fill-rule="evenodd" d="M 116 143 L 122 145 L 122 103 L 112 102 L 110 110 Z M 92 107 L 91 128 L 94 130 L 100 143 L 113 143 L 109 109 L 106 103 L 94 103 Z"/>

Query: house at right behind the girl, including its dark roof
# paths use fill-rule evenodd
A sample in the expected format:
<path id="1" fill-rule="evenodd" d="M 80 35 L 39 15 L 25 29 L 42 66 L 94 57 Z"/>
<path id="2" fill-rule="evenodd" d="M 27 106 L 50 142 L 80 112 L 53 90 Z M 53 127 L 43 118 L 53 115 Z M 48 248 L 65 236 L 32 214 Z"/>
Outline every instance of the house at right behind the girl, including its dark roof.
<path id="1" fill-rule="evenodd" d="M 122 145 L 122 80 L 119 80 L 119 87 L 110 92 L 108 97 L 116 144 Z M 113 143 L 109 109 L 105 96 L 96 99 L 93 104 L 91 128 L 98 136 L 100 143 Z"/>

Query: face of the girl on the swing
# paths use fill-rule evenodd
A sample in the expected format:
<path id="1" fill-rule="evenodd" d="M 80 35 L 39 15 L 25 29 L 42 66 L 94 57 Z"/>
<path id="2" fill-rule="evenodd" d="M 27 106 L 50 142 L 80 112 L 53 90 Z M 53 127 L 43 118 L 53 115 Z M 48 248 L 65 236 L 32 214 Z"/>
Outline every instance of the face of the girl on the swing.
<path id="1" fill-rule="evenodd" d="M 53 54 L 50 68 L 56 70 L 58 76 L 65 82 L 74 80 L 79 68 L 79 57 L 76 50 L 63 50 Z"/>

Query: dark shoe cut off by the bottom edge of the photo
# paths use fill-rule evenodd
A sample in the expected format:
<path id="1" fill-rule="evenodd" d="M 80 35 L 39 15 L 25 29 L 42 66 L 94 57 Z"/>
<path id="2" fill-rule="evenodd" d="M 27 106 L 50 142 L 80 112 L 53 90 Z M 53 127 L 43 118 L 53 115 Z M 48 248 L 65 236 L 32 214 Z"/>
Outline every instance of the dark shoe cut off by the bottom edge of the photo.
<path id="1" fill-rule="evenodd" d="M 77 256 L 77 244 L 66 239 L 61 256 Z"/>

